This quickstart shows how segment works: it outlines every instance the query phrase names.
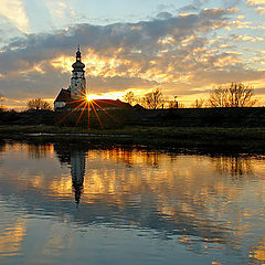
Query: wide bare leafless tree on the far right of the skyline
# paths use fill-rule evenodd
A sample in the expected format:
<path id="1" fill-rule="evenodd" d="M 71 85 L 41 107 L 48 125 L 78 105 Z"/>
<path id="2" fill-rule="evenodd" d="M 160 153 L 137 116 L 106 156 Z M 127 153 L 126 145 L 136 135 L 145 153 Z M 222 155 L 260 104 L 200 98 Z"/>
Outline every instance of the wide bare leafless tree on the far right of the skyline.
<path id="1" fill-rule="evenodd" d="M 254 88 L 242 83 L 219 86 L 213 89 L 208 99 L 210 107 L 252 107 L 257 99 L 254 96 Z"/>

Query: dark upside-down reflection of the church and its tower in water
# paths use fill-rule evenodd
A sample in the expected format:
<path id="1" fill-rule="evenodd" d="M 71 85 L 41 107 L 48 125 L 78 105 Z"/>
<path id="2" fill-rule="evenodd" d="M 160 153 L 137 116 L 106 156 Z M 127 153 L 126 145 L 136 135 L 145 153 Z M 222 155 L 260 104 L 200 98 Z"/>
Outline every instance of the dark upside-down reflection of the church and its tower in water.
<path id="1" fill-rule="evenodd" d="M 61 145 L 54 145 L 54 150 L 61 165 L 71 166 L 72 187 L 75 193 L 75 202 L 80 203 L 85 176 L 85 150 L 74 149 L 70 146 L 62 148 Z"/>

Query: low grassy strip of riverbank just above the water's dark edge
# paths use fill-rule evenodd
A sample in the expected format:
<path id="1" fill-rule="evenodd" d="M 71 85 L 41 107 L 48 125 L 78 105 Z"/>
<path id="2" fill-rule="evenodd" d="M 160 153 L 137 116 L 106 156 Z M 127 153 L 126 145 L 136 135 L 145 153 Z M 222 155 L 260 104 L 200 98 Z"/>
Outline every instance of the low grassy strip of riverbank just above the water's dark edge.
<path id="1" fill-rule="evenodd" d="M 265 140 L 265 128 L 151 127 L 127 126 L 118 129 L 88 129 L 59 126 L 0 126 L 1 138 L 49 136 L 127 137 L 147 139 Z"/>

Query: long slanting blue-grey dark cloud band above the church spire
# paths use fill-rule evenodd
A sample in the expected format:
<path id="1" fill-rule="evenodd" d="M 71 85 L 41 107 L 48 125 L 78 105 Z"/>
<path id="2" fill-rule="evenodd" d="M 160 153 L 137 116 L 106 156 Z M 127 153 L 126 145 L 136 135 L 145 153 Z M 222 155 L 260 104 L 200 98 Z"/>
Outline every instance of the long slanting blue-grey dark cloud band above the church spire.
<path id="1" fill-rule="evenodd" d="M 138 23 L 116 23 L 106 26 L 77 24 L 50 34 L 29 34 L 13 40 L 0 54 L 0 73 L 25 70 L 32 64 L 51 60 L 60 54 L 70 55 L 77 44 L 92 47 L 112 56 L 110 51 L 141 49 L 144 53 L 157 52 L 157 41 L 172 35 L 176 41 L 197 31 L 211 31 L 216 23 L 222 26 L 229 11 L 208 10 L 187 17 L 170 17 Z"/>

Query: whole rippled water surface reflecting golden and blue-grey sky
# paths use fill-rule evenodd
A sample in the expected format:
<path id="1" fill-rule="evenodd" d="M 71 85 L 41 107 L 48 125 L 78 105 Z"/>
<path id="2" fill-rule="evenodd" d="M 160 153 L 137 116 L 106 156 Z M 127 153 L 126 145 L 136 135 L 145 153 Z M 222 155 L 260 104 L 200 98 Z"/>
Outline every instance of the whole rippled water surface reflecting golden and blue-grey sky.
<path id="1" fill-rule="evenodd" d="M 262 155 L 2 144 L 0 264 L 265 264 Z"/>

